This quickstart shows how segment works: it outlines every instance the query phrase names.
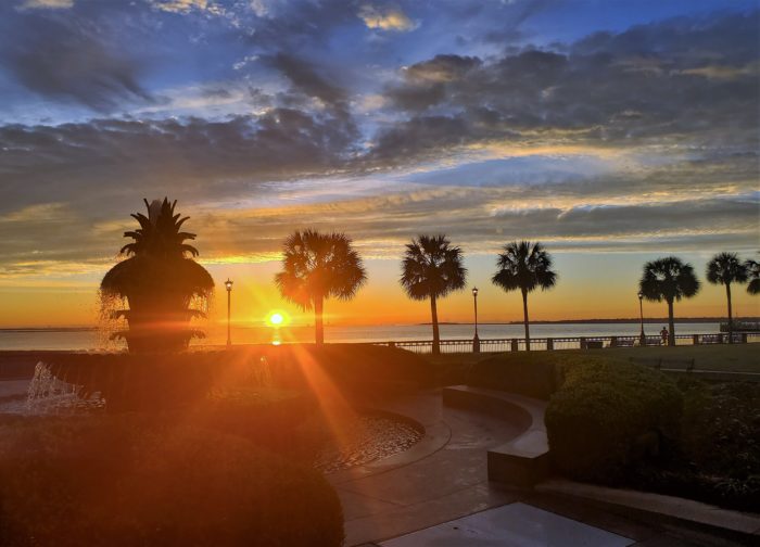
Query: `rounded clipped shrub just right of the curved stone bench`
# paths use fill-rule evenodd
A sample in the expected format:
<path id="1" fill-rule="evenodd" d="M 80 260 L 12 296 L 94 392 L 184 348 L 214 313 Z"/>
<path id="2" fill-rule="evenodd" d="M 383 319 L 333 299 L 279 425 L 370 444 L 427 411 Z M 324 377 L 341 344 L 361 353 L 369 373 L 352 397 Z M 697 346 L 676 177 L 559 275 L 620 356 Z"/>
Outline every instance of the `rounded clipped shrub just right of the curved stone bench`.
<path id="1" fill-rule="evenodd" d="M 546 408 L 556 469 L 580 480 L 622 482 L 677 436 L 683 399 L 661 372 L 624 361 L 568 367 Z"/>

